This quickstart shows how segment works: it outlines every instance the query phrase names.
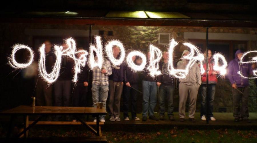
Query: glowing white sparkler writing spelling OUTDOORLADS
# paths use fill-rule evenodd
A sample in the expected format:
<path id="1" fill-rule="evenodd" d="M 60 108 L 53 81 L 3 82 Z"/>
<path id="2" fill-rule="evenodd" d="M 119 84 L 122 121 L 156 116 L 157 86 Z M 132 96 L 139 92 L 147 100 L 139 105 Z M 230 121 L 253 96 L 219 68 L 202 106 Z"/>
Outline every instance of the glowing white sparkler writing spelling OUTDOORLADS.
<path id="1" fill-rule="evenodd" d="M 99 67 L 100 69 L 102 68 L 103 65 L 103 45 L 101 41 L 100 36 L 95 37 L 96 45 L 90 45 L 89 47 L 89 66 L 91 69 L 94 67 Z M 45 79 L 48 83 L 53 83 L 57 80 L 61 68 L 61 61 L 62 61 L 62 56 L 68 56 L 71 59 L 74 60 L 74 77 L 73 77 L 73 82 L 77 82 L 78 78 L 78 73 L 81 72 L 81 67 L 85 66 L 86 60 L 87 60 L 87 51 L 85 50 L 76 50 L 76 43 L 72 38 L 69 38 L 66 40 L 67 43 L 67 48 L 63 48 L 62 46 L 54 46 L 54 52 L 56 55 L 56 61 L 55 64 L 53 65 L 53 69 L 50 73 L 46 72 L 46 66 L 45 66 L 45 44 L 41 45 L 39 52 L 40 52 L 40 59 L 39 59 L 39 72 L 40 75 Z M 116 59 L 113 57 L 113 46 L 117 45 L 120 48 L 121 55 L 119 59 Z M 185 78 L 186 75 L 189 72 L 189 69 L 193 66 L 193 64 L 196 61 L 200 62 L 200 72 L 203 74 L 205 72 L 203 68 L 203 61 L 204 61 L 204 55 L 198 50 L 198 48 L 190 43 L 183 43 L 183 45 L 189 47 L 190 53 L 184 57 L 181 57 L 181 59 L 185 59 L 188 61 L 186 68 L 185 69 L 174 69 L 173 66 L 173 52 L 175 46 L 178 45 L 178 42 L 176 42 L 174 39 L 170 41 L 169 45 L 169 59 L 168 59 L 168 71 L 171 76 L 174 76 L 176 78 Z M 34 52 L 33 50 L 26 46 L 26 45 L 21 45 L 21 44 L 16 44 L 14 45 L 12 50 L 12 54 L 9 58 L 9 64 L 18 69 L 23 69 L 25 67 L 28 67 L 31 65 L 33 62 L 33 56 Z M 29 51 L 29 59 L 27 63 L 19 63 L 15 60 L 15 53 L 19 51 L 20 49 L 26 49 Z M 150 45 L 149 46 L 149 51 L 150 51 L 150 59 L 149 59 L 149 65 L 147 67 L 147 70 L 150 72 L 150 75 L 152 77 L 158 76 L 161 74 L 159 70 L 159 61 L 162 58 L 162 52 L 160 49 L 157 47 Z M 96 57 L 94 56 L 94 52 Z M 118 41 L 118 40 L 113 40 L 109 41 L 109 43 L 105 46 L 105 52 L 107 56 L 109 57 L 110 61 L 113 63 L 113 65 L 120 65 L 124 59 L 125 59 L 125 49 L 123 44 Z M 257 63 L 257 56 L 252 57 L 250 61 L 243 61 L 244 57 L 250 53 L 257 53 L 257 51 L 248 51 L 242 55 L 242 58 L 240 60 L 240 63 Z M 142 63 L 141 65 L 136 65 L 132 61 L 132 57 L 138 55 L 142 58 Z M 216 71 L 219 71 L 221 75 L 226 74 L 226 67 L 227 67 L 227 62 L 226 59 L 223 55 L 221 54 L 214 54 L 214 67 L 213 69 Z M 219 60 L 222 60 L 222 65 L 220 66 L 218 64 Z M 146 55 L 144 55 L 140 51 L 132 51 L 127 55 L 127 63 L 130 68 L 132 68 L 134 71 L 142 71 L 146 65 Z M 238 74 L 242 76 L 243 78 L 249 78 L 245 77 L 238 71 Z M 253 70 L 253 75 L 254 77 L 250 78 L 257 78 L 257 69 Z"/>

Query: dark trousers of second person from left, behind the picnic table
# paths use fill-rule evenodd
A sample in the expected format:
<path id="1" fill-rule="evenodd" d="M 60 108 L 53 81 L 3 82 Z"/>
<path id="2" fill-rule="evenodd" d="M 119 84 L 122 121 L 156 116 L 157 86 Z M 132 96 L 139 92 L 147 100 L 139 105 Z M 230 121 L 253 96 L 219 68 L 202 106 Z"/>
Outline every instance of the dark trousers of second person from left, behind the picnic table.
<path id="1" fill-rule="evenodd" d="M 71 106 L 71 80 L 57 80 L 54 90 L 55 106 Z"/>

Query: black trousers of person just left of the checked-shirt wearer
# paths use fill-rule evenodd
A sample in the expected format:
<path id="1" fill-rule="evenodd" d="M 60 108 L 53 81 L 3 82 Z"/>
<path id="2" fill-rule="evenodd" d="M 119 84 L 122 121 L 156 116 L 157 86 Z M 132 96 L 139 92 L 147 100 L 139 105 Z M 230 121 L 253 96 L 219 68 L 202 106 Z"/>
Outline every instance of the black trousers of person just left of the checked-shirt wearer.
<path id="1" fill-rule="evenodd" d="M 78 82 L 73 93 L 72 105 L 74 107 L 89 106 L 87 105 L 86 98 L 87 98 L 87 87 L 84 86 L 83 82 Z"/>

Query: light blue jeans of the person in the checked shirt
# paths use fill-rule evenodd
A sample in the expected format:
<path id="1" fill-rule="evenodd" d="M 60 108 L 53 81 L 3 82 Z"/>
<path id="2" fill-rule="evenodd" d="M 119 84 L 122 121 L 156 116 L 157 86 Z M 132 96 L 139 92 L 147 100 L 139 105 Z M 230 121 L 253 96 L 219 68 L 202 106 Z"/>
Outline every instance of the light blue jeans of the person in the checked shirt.
<path id="1" fill-rule="evenodd" d="M 97 107 L 97 102 L 103 103 L 103 108 L 106 108 L 106 100 L 108 97 L 109 86 L 98 86 L 92 84 L 92 99 L 93 107 Z M 105 115 L 99 115 L 100 120 L 105 118 Z"/>

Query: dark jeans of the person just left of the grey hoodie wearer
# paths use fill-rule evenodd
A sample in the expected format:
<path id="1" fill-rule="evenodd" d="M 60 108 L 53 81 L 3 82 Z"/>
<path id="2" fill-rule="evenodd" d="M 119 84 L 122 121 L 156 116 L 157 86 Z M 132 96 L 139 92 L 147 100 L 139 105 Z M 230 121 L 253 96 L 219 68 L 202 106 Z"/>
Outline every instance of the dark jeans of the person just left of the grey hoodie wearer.
<path id="1" fill-rule="evenodd" d="M 173 92 L 174 86 L 160 85 L 159 105 L 160 105 L 160 116 L 164 116 L 165 112 L 165 101 L 168 102 L 168 116 L 173 116 Z"/>

